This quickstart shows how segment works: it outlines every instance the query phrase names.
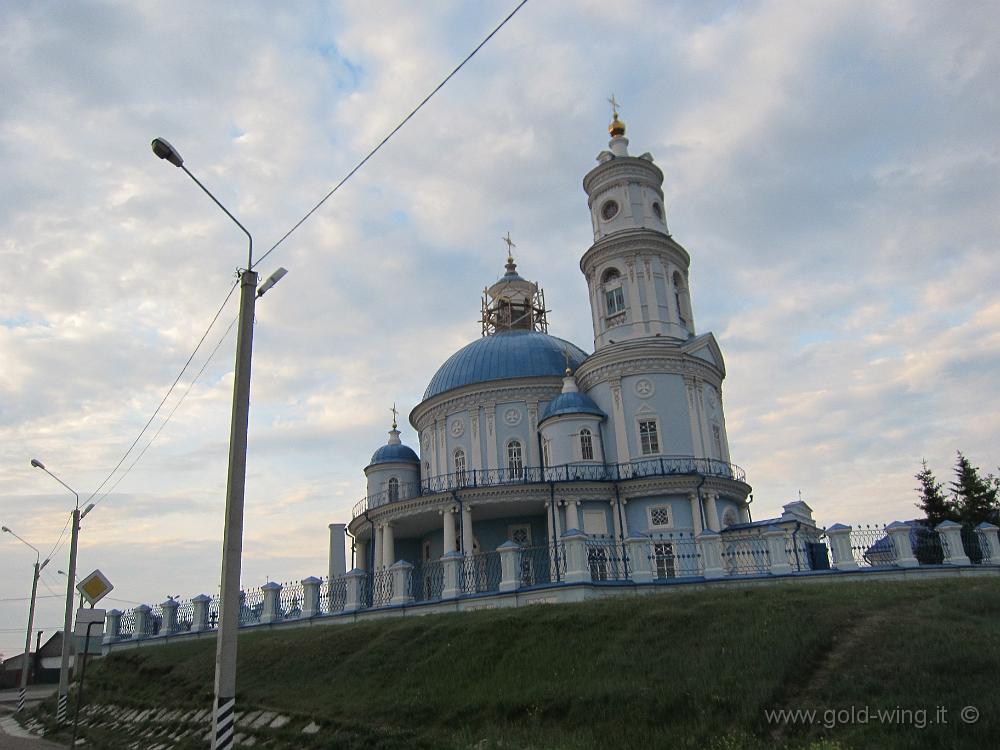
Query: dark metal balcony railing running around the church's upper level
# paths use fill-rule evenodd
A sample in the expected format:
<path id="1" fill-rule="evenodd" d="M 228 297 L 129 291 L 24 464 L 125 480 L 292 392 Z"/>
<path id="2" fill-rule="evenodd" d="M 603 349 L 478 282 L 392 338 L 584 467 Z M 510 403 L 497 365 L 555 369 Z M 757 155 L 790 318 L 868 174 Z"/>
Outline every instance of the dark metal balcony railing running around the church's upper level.
<path id="1" fill-rule="evenodd" d="M 735 479 L 738 482 L 746 481 L 746 472 L 736 464 L 714 458 L 694 458 L 692 456 L 637 458 L 621 464 L 581 463 L 544 468 L 525 466 L 518 469 L 468 469 L 428 477 L 422 480 L 419 485 L 401 484 L 398 493 L 378 492 L 364 497 L 354 506 L 351 518 L 357 518 L 367 510 L 396 500 L 407 500 L 420 495 L 434 495 L 438 492 L 451 492 L 452 490 L 547 482 L 621 482 L 628 479 L 673 475 L 704 475 Z"/>

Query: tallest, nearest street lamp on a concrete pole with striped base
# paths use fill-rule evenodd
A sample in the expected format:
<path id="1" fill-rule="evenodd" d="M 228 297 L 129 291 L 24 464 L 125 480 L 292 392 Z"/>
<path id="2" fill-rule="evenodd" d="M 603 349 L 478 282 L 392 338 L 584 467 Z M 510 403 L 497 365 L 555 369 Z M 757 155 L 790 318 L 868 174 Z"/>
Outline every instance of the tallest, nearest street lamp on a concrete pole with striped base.
<path id="1" fill-rule="evenodd" d="M 229 209 L 184 166 L 184 159 L 169 142 L 154 138 L 153 153 L 183 169 L 205 194 L 247 236 L 247 267 L 240 270 L 240 316 L 236 339 L 236 379 L 233 383 L 233 416 L 229 432 L 229 477 L 226 483 L 226 522 L 222 539 L 222 587 L 219 630 L 215 650 L 215 706 L 212 713 L 212 748 L 233 746 L 236 714 L 236 637 L 240 626 L 240 566 L 243 555 L 243 502 L 247 473 L 247 429 L 250 421 L 250 360 L 253 352 L 254 305 L 287 273 L 279 268 L 257 289 L 253 270 L 253 237 Z"/>

